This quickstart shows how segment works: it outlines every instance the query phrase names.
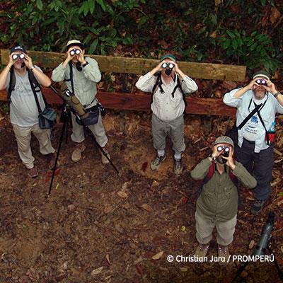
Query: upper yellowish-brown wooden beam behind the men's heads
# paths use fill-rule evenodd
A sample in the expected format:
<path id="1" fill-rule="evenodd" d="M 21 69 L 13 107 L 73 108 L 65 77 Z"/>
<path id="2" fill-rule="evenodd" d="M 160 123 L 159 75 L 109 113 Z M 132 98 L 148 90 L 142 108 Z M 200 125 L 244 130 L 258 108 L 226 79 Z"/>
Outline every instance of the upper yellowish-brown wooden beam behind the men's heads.
<path id="1" fill-rule="evenodd" d="M 1 64 L 8 64 L 10 50 L 1 50 Z M 33 62 L 42 68 L 56 68 L 63 60 L 64 54 L 55 52 L 29 51 Z M 121 74 L 146 74 L 156 67 L 158 60 L 128 57 L 110 57 L 86 55 L 96 59 L 100 71 Z M 244 81 L 246 66 L 209 64 L 195 62 L 178 62 L 180 69 L 194 79 L 215 79 L 226 81 Z"/>

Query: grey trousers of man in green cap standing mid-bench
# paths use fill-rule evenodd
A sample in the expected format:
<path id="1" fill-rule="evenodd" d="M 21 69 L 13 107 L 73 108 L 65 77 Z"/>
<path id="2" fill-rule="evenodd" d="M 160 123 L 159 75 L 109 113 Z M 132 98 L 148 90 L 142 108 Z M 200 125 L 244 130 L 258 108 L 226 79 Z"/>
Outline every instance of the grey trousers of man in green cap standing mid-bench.
<path id="1" fill-rule="evenodd" d="M 170 122 L 163 122 L 156 115 L 152 114 L 152 136 L 154 138 L 154 148 L 164 150 L 166 146 L 167 135 L 173 143 L 173 151 L 180 153 L 185 151 L 184 139 L 184 116 Z"/>

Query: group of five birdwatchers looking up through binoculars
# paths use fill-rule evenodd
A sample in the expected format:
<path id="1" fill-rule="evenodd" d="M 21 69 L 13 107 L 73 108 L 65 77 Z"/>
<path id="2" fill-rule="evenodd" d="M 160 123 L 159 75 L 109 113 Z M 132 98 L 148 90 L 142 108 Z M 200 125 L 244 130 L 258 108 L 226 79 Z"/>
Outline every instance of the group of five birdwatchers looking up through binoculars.
<path id="1" fill-rule="evenodd" d="M 37 177 L 35 158 L 30 148 L 31 133 L 40 144 L 40 153 L 47 157 L 50 168 L 54 168 L 54 148 L 50 140 L 50 129 L 41 129 L 38 124 L 39 107 L 43 111 L 46 102 L 40 88 L 48 87 L 52 81 L 42 70 L 33 65 L 31 57 L 23 46 L 11 49 L 8 64 L 0 74 L 0 89 L 7 89 L 10 103 L 10 119 L 18 144 L 18 154 L 31 178 Z M 101 79 L 98 62 L 85 57 L 83 44 L 79 40 L 69 40 L 66 46 L 66 59 L 52 72 L 55 82 L 65 81 L 69 90 L 86 110 L 97 105 L 96 83 Z M 137 88 L 151 93 L 152 136 L 156 156 L 151 162 L 151 170 L 158 171 L 166 158 L 166 137 L 173 144 L 175 174 L 183 171 L 182 153 L 185 151 L 184 112 L 185 93 L 197 91 L 197 83 L 183 73 L 175 56 L 166 54 L 149 73 L 141 76 Z M 37 101 L 36 101 L 37 100 Z M 195 256 L 202 259 L 207 255 L 209 241 L 216 227 L 218 256 L 221 265 L 229 262 L 228 246 L 233 241 L 238 204 L 241 202 L 238 182 L 254 188 L 255 201 L 250 209 L 252 214 L 260 212 L 272 190 L 273 138 L 268 129 L 275 122 L 275 114 L 283 113 L 283 96 L 270 81 L 266 71 L 258 71 L 252 80 L 242 88 L 236 88 L 224 95 L 224 103 L 237 108 L 236 132 L 238 137 L 222 136 L 214 141 L 212 153 L 204 158 L 191 171 L 194 180 L 200 181 L 196 202 L 196 237 L 199 246 Z M 71 160 L 78 162 L 86 149 L 83 126 L 71 113 L 74 151 Z M 240 126 L 240 127 L 239 127 Z M 108 158 L 101 115 L 95 125 L 88 126 L 98 144 Z M 236 160 L 233 159 L 236 155 Z M 101 154 L 103 164 L 109 163 Z M 200 260 L 201 261 L 201 260 Z"/>

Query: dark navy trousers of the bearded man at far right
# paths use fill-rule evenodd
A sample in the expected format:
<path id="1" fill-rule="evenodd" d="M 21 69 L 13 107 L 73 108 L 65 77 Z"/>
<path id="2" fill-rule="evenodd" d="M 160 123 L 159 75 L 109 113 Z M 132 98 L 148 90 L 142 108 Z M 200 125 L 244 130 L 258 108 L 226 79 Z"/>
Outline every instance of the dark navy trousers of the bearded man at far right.
<path id="1" fill-rule="evenodd" d="M 250 144 L 244 139 L 242 147 L 235 148 L 237 161 L 242 163 L 250 174 L 253 173 L 253 177 L 257 180 L 254 195 L 258 200 L 267 200 L 271 192 L 273 147 L 272 144 L 268 149 L 255 153 L 255 144 Z"/>

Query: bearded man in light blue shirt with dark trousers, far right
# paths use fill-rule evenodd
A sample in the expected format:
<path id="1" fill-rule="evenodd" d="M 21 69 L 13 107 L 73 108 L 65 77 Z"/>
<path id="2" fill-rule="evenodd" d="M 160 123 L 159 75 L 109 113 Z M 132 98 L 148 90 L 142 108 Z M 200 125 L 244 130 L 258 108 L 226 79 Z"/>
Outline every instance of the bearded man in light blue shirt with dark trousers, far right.
<path id="1" fill-rule="evenodd" d="M 257 180 L 255 201 L 250 212 L 257 214 L 271 193 L 270 181 L 273 168 L 273 137 L 269 134 L 275 122 L 275 114 L 283 113 L 283 96 L 270 81 L 270 75 L 258 71 L 243 88 L 236 88 L 224 96 L 224 103 L 237 108 L 238 127 L 256 107 L 258 110 L 241 129 L 238 129 L 238 144 L 235 147 L 237 160 Z"/>

